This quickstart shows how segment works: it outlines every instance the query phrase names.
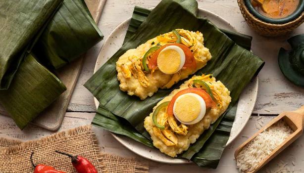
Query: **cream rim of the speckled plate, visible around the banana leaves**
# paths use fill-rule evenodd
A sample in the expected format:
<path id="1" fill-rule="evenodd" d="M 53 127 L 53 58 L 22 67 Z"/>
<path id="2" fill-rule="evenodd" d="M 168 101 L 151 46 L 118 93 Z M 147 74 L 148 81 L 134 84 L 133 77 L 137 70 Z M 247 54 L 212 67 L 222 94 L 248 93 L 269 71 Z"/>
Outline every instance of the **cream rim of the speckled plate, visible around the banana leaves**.
<path id="1" fill-rule="evenodd" d="M 211 11 L 208 11 L 208 10 L 206 10 L 206 9 L 203 9 L 203 8 L 198 8 L 199 9 L 199 11 L 202 11 L 203 13 L 209 13 L 210 15 L 213 15 L 213 16 L 215 16 L 215 17 L 218 17 L 220 20 L 222 20 L 223 22 L 225 22 L 227 25 L 230 25 L 232 28 L 233 28 L 233 32 L 237 32 L 237 33 L 239 33 L 238 32 L 238 30 L 234 27 L 234 26 L 232 26 L 226 19 L 224 19 L 224 18 L 222 18 L 221 16 L 219 16 L 219 15 L 217 15 L 217 14 L 215 14 L 215 13 L 213 13 L 213 12 L 211 12 Z M 126 23 L 129 23 L 130 22 L 130 20 L 131 20 L 131 18 L 132 17 L 129 17 L 128 19 L 126 19 L 126 20 L 124 20 L 123 22 L 121 22 L 118 26 L 116 26 L 115 27 L 115 29 L 108 35 L 108 37 L 107 37 L 107 39 L 104 41 L 104 43 L 102 44 L 102 47 L 103 47 L 103 45 L 105 45 L 105 44 L 108 44 L 108 42 L 109 42 L 109 40 L 110 40 L 110 36 L 113 34 L 113 33 L 115 33 L 118 29 L 120 29 L 120 27 L 121 26 L 123 26 L 123 25 L 125 25 Z M 212 22 L 212 21 L 211 21 Z M 101 50 L 100 50 L 100 52 L 99 52 L 99 55 L 101 54 L 101 51 L 102 51 L 102 47 L 101 47 Z M 99 64 L 98 64 L 98 59 L 99 59 L 99 55 L 98 55 L 98 58 L 96 59 L 96 63 L 95 63 L 95 67 L 94 67 L 94 74 L 99 70 L 99 68 L 100 67 L 98 67 L 99 66 Z M 256 91 L 258 91 L 258 77 L 256 76 Z M 254 95 L 254 98 L 253 98 L 253 102 L 254 102 L 254 104 L 255 104 L 255 102 L 256 102 L 256 98 L 257 98 L 257 92 L 255 92 L 255 95 Z M 96 106 L 96 108 L 98 109 L 98 106 L 99 106 L 99 101 L 97 100 L 97 98 L 96 97 L 94 97 L 94 103 L 95 103 L 95 106 Z M 250 112 L 251 112 L 251 114 L 252 114 L 252 112 L 253 112 L 253 109 L 254 109 L 254 106 L 252 107 L 252 109 L 250 110 Z M 247 119 L 245 119 L 245 125 L 241 128 L 241 130 L 240 131 L 242 131 L 245 127 L 246 127 L 246 124 L 249 122 L 249 120 L 250 120 L 250 117 L 251 116 L 248 116 L 248 118 Z M 110 131 L 109 131 L 110 132 Z M 230 145 L 234 140 L 235 140 L 235 138 L 236 137 L 238 137 L 239 136 L 239 134 L 240 134 L 241 132 L 239 132 L 237 135 L 235 135 L 233 138 L 230 138 L 229 137 L 229 139 L 228 139 L 228 141 L 227 141 L 227 144 L 226 144 L 226 147 L 228 146 L 228 145 Z M 176 159 L 178 159 L 178 160 L 181 160 L 180 162 L 170 162 L 170 161 L 159 161 L 159 160 L 156 160 L 156 159 L 152 159 L 152 158 L 150 158 L 149 156 L 146 156 L 146 155 L 143 155 L 143 154 L 140 154 L 140 153 L 137 153 L 137 152 L 135 152 L 135 151 L 133 151 L 132 150 L 132 147 L 130 147 L 129 145 L 127 145 L 125 142 L 123 142 L 123 139 L 119 136 L 119 135 L 117 135 L 117 134 L 115 134 L 115 133 L 113 133 L 113 132 L 110 132 L 110 134 L 120 143 L 120 144 L 122 144 L 124 147 L 126 147 L 127 149 L 129 149 L 130 151 L 132 151 L 133 153 L 135 153 L 135 154 L 137 154 L 137 155 L 139 155 L 139 156 L 141 156 L 141 157 L 144 157 L 144 158 L 146 158 L 146 159 L 149 159 L 149 160 L 152 160 L 152 161 L 156 161 L 156 162 L 161 162 L 161 163 L 167 163 L 167 164 L 187 164 L 187 163 L 192 163 L 192 161 L 190 161 L 190 160 L 188 160 L 188 159 L 184 159 L 184 158 L 176 158 Z M 124 136 L 123 136 L 124 137 Z M 162 153 L 163 154 L 163 153 Z"/>

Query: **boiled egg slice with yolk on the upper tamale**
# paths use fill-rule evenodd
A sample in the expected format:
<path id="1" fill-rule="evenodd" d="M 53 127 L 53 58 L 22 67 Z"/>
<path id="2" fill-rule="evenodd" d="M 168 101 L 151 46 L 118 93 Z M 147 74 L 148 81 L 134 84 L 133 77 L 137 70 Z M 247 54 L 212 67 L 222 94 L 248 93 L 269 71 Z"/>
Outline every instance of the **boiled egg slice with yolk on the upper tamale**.
<path id="1" fill-rule="evenodd" d="M 183 49 L 176 45 L 170 45 L 159 52 L 157 66 L 162 73 L 171 75 L 183 68 L 185 59 Z"/>

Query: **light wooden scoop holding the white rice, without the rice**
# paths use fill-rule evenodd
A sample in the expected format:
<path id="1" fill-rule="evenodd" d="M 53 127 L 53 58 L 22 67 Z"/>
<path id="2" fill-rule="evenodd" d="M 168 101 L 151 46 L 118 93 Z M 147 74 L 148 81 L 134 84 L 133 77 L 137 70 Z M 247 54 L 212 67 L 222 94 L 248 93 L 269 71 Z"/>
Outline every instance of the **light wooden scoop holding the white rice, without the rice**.
<path id="1" fill-rule="evenodd" d="M 263 132 L 271 125 L 275 124 L 279 120 L 284 120 L 285 123 L 294 131 L 290 136 L 285 139 L 281 145 L 279 145 L 276 149 L 274 149 L 268 157 L 266 157 L 262 163 L 253 171 L 248 173 L 256 173 L 259 169 L 261 169 L 265 164 L 267 164 L 271 159 L 273 159 L 276 155 L 278 155 L 281 151 L 283 151 L 288 145 L 293 143 L 297 138 L 299 138 L 303 133 L 304 127 L 304 106 L 300 109 L 292 112 L 283 112 L 274 118 L 271 122 L 269 122 L 266 126 L 256 132 L 251 138 L 245 141 L 242 145 L 240 145 L 234 153 L 234 158 L 237 160 L 238 154 L 242 151 L 242 149 L 248 144 L 253 138 L 255 138 L 259 133 Z"/>

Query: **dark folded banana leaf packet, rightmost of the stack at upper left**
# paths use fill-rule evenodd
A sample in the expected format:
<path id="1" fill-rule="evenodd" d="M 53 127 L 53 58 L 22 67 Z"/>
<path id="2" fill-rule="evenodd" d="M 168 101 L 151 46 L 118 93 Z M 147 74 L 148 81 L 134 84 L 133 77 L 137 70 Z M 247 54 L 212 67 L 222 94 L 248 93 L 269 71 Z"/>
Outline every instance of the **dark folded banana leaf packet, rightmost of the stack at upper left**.
<path id="1" fill-rule="evenodd" d="M 102 38 L 85 1 L 64 0 L 32 51 L 46 66 L 58 69 Z"/>

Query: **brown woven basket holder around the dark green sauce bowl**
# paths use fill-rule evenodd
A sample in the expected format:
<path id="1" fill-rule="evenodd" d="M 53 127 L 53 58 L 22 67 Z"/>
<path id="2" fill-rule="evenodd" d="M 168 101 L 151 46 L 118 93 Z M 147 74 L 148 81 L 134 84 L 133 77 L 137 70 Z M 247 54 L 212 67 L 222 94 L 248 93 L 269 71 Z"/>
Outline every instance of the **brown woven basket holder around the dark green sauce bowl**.
<path id="1" fill-rule="evenodd" d="M 295 20 L 284 24 L 271 24 L 259 20 L 246 7 L 244 0 L 238 0 L 238 4 L 243 17 L 250 27 L 258 34 L 263 36 L 281 36 L 295 28 L 299 27 L 304 22 L 304 12 Z"/>

